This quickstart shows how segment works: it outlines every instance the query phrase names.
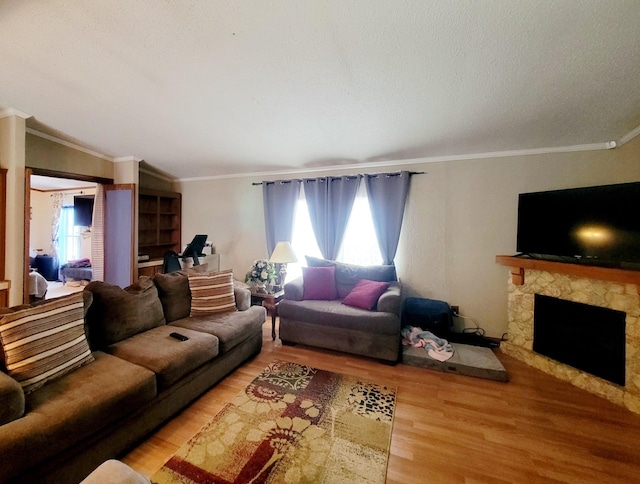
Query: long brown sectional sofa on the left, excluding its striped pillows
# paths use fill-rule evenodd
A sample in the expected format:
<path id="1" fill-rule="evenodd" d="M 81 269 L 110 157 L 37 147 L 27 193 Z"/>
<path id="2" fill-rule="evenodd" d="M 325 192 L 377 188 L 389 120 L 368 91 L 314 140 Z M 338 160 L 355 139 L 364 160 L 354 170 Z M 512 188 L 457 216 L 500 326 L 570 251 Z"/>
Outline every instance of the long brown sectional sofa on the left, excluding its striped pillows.
<path id="1" fill-rule="evenodd" d="M 0 482 L 77 483 L 260 352 L 266 313 L 250 292 L 235 288 L 236 311 L 191 318 L 189 271 L 89 284 L 94 361 L 26 395 L 0 372 Z"/>

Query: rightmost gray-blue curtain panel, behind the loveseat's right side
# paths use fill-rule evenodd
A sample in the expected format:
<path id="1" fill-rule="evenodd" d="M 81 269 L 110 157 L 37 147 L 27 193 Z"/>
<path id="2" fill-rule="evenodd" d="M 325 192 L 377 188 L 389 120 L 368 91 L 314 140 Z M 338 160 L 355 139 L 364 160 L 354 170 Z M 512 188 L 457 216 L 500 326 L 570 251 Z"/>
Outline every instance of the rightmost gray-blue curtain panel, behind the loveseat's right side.
<path id="1" fill-rule="evenodd" d="M 409 194 L 411 174 L 365 175 L 367 198 L 376 229 L 378 245 L 385 264 L 393 264 L 398 250 L 404 207 Z"/>

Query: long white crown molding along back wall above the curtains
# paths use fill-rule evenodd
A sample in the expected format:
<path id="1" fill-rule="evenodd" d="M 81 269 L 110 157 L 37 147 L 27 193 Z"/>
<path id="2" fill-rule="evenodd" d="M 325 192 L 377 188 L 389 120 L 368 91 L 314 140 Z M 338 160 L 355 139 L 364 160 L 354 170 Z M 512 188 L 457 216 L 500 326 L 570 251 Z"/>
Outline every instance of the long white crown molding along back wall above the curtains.
<path id="1" fill-rule="evenodd" d="M 478 160 L 486 158 L 508 158 L 511 156 L 528 156 L 528 155 L 544 155 L 551 153 L 571 153 L 575 151 L 598 151 L 598 150 L 610 150 L 619 146 L 619 143 L 615 141 L 606 141 L 604 143 L 591 143 L 584 145 L 573 146 L 558 146 L 553 148 L 532 148 L 527 150 L 510 150 L 510 151 L 493 151 L 488 153 L 470 153 L 464 155 L 447 155 L 447 156 L 433 156 L 424 158 L 408 158 L 405 160 L 393 160 L 393 161 L 377 161 L 366 163 L 352 163 L 349 165 L 327 165 L 314 168 L 304 168 L 296 170 L 279 170 L 279 171 L 259 171 L 253 173 L 234 173 L 230 175 L 213 175 L 204 177 L 191 177 L 191 178 L 179 178 L 178 182 L 189 183 L 206 180 L 224 180 L 229 178 L 255 178 L 264 176 L 278 176 L 278 175 L 296 175 L 305 173 L 315 173 L 318 171 L 326 170 L 362 170 L 363 168 L 381 168 L 389 166 L 406 166 L 416 165 L 422 163 L 439 163 L 444 161 L 464 161 L 464 160 Z"/>

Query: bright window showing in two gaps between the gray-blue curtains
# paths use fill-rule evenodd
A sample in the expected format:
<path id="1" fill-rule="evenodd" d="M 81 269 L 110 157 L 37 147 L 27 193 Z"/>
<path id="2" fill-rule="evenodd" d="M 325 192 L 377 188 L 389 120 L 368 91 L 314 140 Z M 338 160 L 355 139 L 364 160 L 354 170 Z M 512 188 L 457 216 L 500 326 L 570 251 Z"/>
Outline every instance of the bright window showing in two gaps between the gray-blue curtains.
<path id="1" fill-rule="evenodd" d="M 302 267 L 307 265 L 306 255 L 322 257 L 311 226 L 309 209 L 304 198 L 304 187 L 300 191 L 300 199 L 296 207 L 291 246 L 296 253 L 298 262 L 287 266 L 287 281 L 302 275 Z M 373 219 L 364 183 L 360 185 L 358 195 L 353 204 L 337 260 L 359 265 L 382 264 L 382 256 L 380 255 L 378 240 L 373 227 Z"/>

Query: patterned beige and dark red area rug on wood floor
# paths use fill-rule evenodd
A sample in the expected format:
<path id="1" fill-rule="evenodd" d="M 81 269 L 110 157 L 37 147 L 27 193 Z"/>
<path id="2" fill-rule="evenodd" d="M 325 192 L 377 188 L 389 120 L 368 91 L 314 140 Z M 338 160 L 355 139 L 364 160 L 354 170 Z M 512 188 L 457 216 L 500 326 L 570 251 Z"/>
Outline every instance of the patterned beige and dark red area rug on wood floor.
<path id="1" fill-rule="evenodd" d="M 385 482 L 396 390 L 274 361 L 154 483 Z"/>

